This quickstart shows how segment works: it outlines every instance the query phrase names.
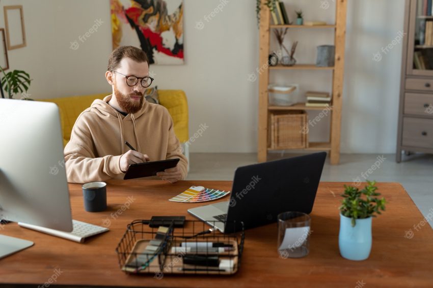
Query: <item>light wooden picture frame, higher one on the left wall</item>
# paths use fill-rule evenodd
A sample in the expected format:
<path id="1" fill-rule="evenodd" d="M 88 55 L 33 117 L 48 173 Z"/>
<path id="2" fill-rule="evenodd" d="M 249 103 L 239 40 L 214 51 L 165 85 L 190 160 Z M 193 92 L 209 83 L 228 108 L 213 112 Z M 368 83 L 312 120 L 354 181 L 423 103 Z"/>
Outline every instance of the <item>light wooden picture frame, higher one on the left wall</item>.
<path id="1" fill-rule="evenodd" d="M 8 50 L 25 47 L 24 14 L 22 5 L 5 6 L 5 26 Z"/>

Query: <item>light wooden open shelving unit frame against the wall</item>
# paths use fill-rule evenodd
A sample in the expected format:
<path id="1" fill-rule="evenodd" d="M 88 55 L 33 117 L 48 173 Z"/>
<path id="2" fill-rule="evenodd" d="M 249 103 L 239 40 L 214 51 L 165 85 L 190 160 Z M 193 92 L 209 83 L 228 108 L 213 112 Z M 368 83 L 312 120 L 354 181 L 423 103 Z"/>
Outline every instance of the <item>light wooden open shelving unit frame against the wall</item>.
<path id="1" fill-rule="evenodd" d="M 299 0 L 302 1 L 302 0 Z M 335 65 L 334 67 L 316 67 L 314 64 L 299 64 L 292 67 L 269 66 L 259 75 L 259 124 L 258 124 L 258 162 L 267 160 L 267 152 L 277 149 L 269 148 L 268 130 L 269 130 L 269 113 L 272 111 L 290 111 L 290 110 L 323 110 L 324 107 L 306 107 L 304 103 L 298 103 L 293 106 L 269 106 L 268 91 L 269 73 L 278 73 L 280 70 L 324 70 L 323 73 L 333 73 L 332 83 L 332 106 L 331 106 L 331 134 L 330 142 L 317 143 L 310 142 L 308 148 L 293 150 L 314 150 L 329 151 L 331 164 L 335 165 L 340 162 L 340 130 L 341 130 L 341 104 L 343 93 L 343 73 L 344 73 L 344 49 L 346 35 L 346 7 L 347 0 L 336 1 L 336 19 L 335 25 L 270 25 L 270 12 L 266 7 L 266 0 L 261 0 L 262 7 L 260 12 L 260 50 L 259 50 L 259 67 L 266 67 L 269 55 L 269 37 L 274 28 L 299 28 L 307 29 L 309 33 L 315 33 L 312 28 L 332 28 L 334 29 L 335 45 Z M 289 30 L 290 34 L 290 30 Z M 314 59 L 315 60 L 315 59 Z M 328 72 L 329 71 L 329 72 Z"/>

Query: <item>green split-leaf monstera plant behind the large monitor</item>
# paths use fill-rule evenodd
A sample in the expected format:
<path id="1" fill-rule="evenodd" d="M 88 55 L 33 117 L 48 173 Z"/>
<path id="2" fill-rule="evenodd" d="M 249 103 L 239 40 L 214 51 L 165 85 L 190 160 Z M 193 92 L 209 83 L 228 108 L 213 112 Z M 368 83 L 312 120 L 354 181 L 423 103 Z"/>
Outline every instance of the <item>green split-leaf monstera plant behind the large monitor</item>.
<path id="1" fill-rule="evenodd" d="M 2 73 L 4 77 L 1 77 L 0 83 L 2 85 L 2 90 L 8 93 L 8 98 L 12 99 L 14 94 L 23 93 L 26 95 L 26 92 L 29 90 L 30 82 L 33 79 L 30 79 L 29 73 L 22 70 L 14 70 L 6 73 L 1 67 Z M 3 91 L 2 91 L 2 97 Z M 33 100 L 24 96 L 24 100 Z"/>

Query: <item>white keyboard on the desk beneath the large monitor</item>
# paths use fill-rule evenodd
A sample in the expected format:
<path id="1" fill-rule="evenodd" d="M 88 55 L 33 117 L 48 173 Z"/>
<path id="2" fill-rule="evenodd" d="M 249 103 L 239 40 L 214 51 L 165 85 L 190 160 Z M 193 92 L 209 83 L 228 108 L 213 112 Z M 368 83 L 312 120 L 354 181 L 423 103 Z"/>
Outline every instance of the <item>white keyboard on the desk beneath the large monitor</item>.
<path id="1" fill-rule="evenodd" d="M 24 228 L 36 230 L 52 236 L 65 238 L 79 243 L 83 243 L 87 237 L 109 231 L 108 228 L 77 220 L 72 220 L 72 232 L 64 232 L 21 222 L 18 222 L 18 225 Z"/>

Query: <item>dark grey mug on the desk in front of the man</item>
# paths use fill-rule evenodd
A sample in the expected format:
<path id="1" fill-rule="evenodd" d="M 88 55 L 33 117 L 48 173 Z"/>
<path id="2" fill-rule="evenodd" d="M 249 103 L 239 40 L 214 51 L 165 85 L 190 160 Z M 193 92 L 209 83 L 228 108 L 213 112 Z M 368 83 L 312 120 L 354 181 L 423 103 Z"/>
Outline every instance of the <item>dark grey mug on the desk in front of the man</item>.
<path id="1" fill-rule="evenodd" d="M 87 212 L 101 212 L 107 209 L 107 190 L 105 182 L 83 184 L 84 209 Z"/>

